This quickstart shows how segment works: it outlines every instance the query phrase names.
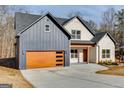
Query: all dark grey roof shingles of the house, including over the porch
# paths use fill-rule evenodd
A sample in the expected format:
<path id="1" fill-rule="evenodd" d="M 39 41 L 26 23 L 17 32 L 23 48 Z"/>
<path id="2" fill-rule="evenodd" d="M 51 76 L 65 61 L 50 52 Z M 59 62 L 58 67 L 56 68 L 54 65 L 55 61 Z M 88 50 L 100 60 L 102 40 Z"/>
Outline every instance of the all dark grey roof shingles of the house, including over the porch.
<path id="1" fill-rule="evenodd" d="M 15 24 L 14 28 L 16 29 L 16 34 L 21 32 L 22 30 L 24 30 L 26 27 L 31 25 L 33 22 L 35 22 L 40 17 L 42 17 L 42 15 L 34 15 L 34 14 L 16 12 L 15 13 L 15 23 L 14 23 Z M 59 17 L 55 17 L 55 16 L 53 16 L 53 17 L 57 21 L 57 23 L 60 24 L 61 26 L 68 23 L 74 17 L 77 17 L 85 25 L 85 27 L 94 35 L 94 38 L 91 41 L 81 41 L 81 40 L 76 41 L 76 40 L 74 40 L 74 41 L 71 41 L 72 43 L 94 44 L 94 43 L 97 43 L 106 34 L 106 32 L 95 32 L 91 28 L 90 24 L 79 16 L 74 16 L 70 19 L 59 18 Z M 110 38 L 111 38 L 111 36 L 110 36 Z M 113 38 L 112 38 L 112 40 L 113 40 Z"/>

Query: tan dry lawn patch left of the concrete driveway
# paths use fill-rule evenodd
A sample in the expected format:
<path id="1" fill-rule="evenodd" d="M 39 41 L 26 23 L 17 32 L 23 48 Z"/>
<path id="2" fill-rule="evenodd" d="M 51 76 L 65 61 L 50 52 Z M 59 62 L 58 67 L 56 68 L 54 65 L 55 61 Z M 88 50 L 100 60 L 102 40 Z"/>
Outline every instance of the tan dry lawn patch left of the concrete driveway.
<path id="1" fill-rule="evenodd" d="M 21 72 L 16 69 L 0 66 L 0 84 L 12 84 L 14 88 L 32 88 L 33 86 L 24 79 Z"/>

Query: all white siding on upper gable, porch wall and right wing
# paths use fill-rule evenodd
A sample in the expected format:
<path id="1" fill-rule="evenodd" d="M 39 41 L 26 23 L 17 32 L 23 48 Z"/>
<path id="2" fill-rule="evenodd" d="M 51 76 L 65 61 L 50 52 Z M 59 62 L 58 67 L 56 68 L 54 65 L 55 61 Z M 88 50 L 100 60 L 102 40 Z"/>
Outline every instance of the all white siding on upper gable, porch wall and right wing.
<path id="1" fill-rule="evenodd" d="M 91 40 L 94 36 L 89 32 L 89 30 L 82 25 L 82 23 L 75 17 L 70 22 L 64 25 L 64 28 L 71 33 L 72 30 L 81 31 L 81 40 Z M 102 58 L 102 49 L 110 49 L 110 58 Z M 83 61 L 83 49 L 78 51 L 79 58 L 71 58 L 71 63 L 77 63 L 81 60 Z M 95 47 L 89 48 L 89 61 L 98 63 L 99 61 L 112 60 L 115 62 L 115 44 L 106 34 Z"/>

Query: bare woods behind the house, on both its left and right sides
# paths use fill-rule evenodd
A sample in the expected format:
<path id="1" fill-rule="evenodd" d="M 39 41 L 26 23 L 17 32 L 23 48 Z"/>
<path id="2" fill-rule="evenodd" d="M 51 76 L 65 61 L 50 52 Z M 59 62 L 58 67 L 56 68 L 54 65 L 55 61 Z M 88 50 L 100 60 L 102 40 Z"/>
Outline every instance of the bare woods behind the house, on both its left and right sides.
<path id="1" fill-rule="evenodd" d="M 35 10 L 36 11 L 36 10 Z M 15 57 L 15 31 L 14 14 L 15 12 L 33 13 L 28 6 L 0 6 L 0 58 Z M 42 9 L 37 14 L 43 14 Z M 83 11 L 70 12 L 67 18 L 81 16 Z M 118 42 L 118 46 L 124 45 L 124 9 L 115 11 L 110 8 L 101 14 L 102 21 L 96 24 L 93 20 L 87 20 L 91 27 L 98 32 L 108 32 Z"/>

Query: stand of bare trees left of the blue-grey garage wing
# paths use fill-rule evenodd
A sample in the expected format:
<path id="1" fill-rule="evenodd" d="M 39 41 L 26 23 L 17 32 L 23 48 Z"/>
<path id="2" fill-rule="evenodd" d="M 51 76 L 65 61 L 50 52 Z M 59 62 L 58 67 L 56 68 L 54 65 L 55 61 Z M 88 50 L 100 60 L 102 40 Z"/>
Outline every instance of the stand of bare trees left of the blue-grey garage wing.
<path id="1" fill-rule="evenodd" d="M 0 5 L 0 58 L 15 57 L 14 13 L 32 12 L 28 6 Z"/>

